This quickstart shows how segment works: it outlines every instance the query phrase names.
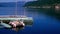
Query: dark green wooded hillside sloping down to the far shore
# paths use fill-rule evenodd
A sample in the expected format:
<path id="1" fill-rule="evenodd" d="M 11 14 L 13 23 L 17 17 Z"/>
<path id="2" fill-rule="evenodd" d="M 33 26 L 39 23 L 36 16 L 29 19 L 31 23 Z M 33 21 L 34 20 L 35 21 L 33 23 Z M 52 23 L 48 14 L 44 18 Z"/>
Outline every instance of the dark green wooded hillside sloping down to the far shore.
<path id="1" fill-rule="evenodd" d="M 25 6 L 43 6 L 43 5 L 54 5 L 60 3 L 60 0 L 37 0 L 32 2 L 27 2 Z"/>

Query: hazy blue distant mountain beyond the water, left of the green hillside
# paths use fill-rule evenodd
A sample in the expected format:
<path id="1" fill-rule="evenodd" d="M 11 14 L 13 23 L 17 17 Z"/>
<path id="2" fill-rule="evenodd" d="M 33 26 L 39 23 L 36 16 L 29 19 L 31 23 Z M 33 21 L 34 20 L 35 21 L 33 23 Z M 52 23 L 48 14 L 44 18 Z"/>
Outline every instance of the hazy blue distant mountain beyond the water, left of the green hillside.
<path id="1" fill-rule="evenodd" d="M 22 7 L 25 2 L 17 2 L 18 7 Z M 0 3 L 0 7 L 16 7 L 16 2 L 4 2 Z"/>

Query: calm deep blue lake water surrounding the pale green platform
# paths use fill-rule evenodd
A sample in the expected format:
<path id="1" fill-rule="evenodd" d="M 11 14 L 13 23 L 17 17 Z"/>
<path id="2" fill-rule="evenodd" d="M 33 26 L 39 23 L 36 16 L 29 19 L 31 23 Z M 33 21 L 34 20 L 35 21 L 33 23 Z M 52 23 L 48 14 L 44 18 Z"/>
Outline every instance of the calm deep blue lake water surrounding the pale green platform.
<path id="1" fill-rule="evenodd" d="M 33 17 L 33 25 L 25 26 L 18 32 L 11 29 L 0 29 L 1 34 L 60 34 L 60 20 L 51 9 L 26 9 L 18 7 L 18 15 Z M 51 15 L 49 15 L 50 13 Z M 0 15 L 15 15 L 15 7 L 0 7 Z"/>

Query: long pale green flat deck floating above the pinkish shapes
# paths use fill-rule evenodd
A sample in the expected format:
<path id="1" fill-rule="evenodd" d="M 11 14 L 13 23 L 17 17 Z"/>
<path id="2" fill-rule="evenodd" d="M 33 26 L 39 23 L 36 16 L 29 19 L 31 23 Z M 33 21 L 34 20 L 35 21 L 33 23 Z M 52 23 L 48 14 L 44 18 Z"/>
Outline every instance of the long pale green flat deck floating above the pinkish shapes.
<path id="1" fill-rule="evenodd" d="M 10 21 L 14 21 L 14 20 L 23 20 L 23 22 L 26 25 L 32 25 L 33 24 L 33 18 L 32 17 L 26 17 L 26 16 L 14 16 L 14 15 L 4 15 L 4 16 L 0 16 L 0 21 L 3 21 L 4 23 L 9 23 Z"/>

